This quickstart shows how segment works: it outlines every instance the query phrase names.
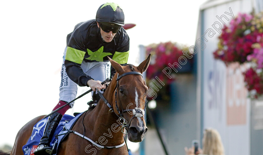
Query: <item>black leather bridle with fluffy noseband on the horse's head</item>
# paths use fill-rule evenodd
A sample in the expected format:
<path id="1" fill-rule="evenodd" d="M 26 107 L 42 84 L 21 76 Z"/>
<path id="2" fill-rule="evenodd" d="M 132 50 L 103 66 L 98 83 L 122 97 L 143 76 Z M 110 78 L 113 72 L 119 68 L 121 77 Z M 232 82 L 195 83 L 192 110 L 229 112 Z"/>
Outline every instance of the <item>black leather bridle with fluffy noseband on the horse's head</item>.
<path id="1" fill-rule="evenodd" d="M 121 132 L 122 132 L 123 134 L 126 134 L 126 133 L 124 133 L 124 128 L 126 129 L 127 132 L 129 131 L 129 127 L 130 127 L 130 125 L 131 125 L 131 120 L 132 120 L 134 117 L 136 117 L 135 114 L 141 114 L 141 117 L 143 117 L 143 119 L 144 119 L 142 109 L 138 109 L 138 108 L 137 108 L 137 109 L 127 109 L 127 107 L 126 107 L 126 109 L 124 110 L 123 107 L 122 107 L 122 104 L 121 104 L 120 97 L 119 97 L 119 101 L 120 101 L 120 105 L 121 105 L 122 111 L 119 110 L 119 107 L 118 107 L 118 105 L 117 105 L 117 89 L 119 88 L 119 80 L 120 80 L 122 77 L 124 77 L 124 76 L 126 76 L 126 75 L 131 75 L 131 74 L 142 76 L 142 74 L 141 74 L 140 72 L 126 72 L 126 73 L 123 73 L 123 74 L 120 75 L 120 76 L 119 76 L 119 73 L 117 74 L 117 78 L 116 78 L 117 84 L 116 84 L 116 86 L 115 86 L 115 88 L 114 88 L 114 90 L 115 90 L 115 108 L 116 108 L 116 110 L 117 110 L 117 113 L 114 111 L 114 109 L 112 108 L 111 104 L 104 98 L 103 94 L 97 89 L 97 93 L 100 95 L 101 99 L 102 99 L 102 100 L 104 101 L 104 103 L 110 108 L 109 111 L 110 111 L 110 112 L 114 112 L 114 113 L 117 115 L 118 118 L 121 118 L 121 120 L 123 120 L 123 121 L 121 122 L 121 126 L 122 126 L 122 127 L 121 127 Z M 118 89 L 118 91 L 120 91 L 120 90 Z M 144 109 L 147 109 L 147 108 L 146 108 L 146 104 L 144 104 Z M 129 124 L 127 124 L 127 123 L 126 123 L 127 121 L 122 117 L 122 116 L 123 116 L 123 113 L 128 112 L 128 111 L 132 111 L 132 113 L 134 114 L 133 117 L 131 118 Z M 127 128 L 126 128 L 126 127 L 127 127 Z"/>

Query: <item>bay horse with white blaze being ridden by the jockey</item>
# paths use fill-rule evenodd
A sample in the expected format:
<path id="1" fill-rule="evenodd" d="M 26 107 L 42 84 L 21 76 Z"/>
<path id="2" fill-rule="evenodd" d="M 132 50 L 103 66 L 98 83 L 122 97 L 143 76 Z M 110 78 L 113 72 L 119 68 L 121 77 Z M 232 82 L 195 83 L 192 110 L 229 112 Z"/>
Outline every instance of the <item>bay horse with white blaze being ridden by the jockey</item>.
<path id="1" fill-rule="evenodd" d="M 87 110 L 76 121 L 71 129 L 75 134 L 69 133 L 59 144 L 57 155 L 128 155 L 124 128 L 131 142 L 141 142 L 144 139 L 147 127 L 143 115 L 148 88 L 142 72 L 149 66 L 151 54 L 138 67 L 131 64 L 121 66 L 111 58 L 108 59 L 116 74 L 106 91 L 100 94 L 101 99 L 95 108 Z M 43 117 L 34 118 L 18 131 L 11 155 L 23 155 L 22 147 L 30 138 L 33 126 Z"/>

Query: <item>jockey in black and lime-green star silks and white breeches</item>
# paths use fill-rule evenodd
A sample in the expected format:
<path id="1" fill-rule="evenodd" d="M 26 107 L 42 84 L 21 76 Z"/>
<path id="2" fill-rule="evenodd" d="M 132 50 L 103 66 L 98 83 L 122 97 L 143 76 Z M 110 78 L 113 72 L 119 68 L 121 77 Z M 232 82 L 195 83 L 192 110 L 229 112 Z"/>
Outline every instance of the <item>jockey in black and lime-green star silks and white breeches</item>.
<path id="1" fill-rule="evenodd" d="M 129 56 L 130 39 L 124 26 L 124 13 L 115 3 L 102 4 L 96 19 L 77 24 L 67 36 L 59 87 L 59 103 L 53 109 L 75 99 L 77 85 L 88 86 L 94 92 L 96 88 L 106 88 L 101 81 L 112 77 L 116 72 L 110 67 L 109 56 L 120 64 L 126 64 Z M 94 100 L 94 99 L 93 99 Z M 74 102 L 49 116 L 43 137 L 34 152 L 35 155 L 46 154 L 51 137 L 65 112 L 72 108 Z"/>

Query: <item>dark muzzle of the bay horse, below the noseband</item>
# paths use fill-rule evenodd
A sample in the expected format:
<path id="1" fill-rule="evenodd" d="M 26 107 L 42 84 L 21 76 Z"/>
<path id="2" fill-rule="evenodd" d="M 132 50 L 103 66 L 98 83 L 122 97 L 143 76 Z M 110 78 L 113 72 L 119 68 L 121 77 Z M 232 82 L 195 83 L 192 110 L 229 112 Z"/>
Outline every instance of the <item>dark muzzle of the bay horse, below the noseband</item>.
<path id="1" fill-rule="evenodd" d="M 142 142 L 148 128 L 145 125 L 143 117 L 135 117 L 131 120 L 128 130 L 128 139 L 131 142 Z"/>

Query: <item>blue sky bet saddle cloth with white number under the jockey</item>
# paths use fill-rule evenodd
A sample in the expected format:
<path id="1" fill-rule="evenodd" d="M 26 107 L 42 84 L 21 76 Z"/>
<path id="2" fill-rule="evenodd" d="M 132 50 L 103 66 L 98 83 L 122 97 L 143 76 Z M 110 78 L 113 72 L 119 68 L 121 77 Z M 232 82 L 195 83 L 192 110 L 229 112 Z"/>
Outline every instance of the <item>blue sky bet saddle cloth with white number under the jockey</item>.
<path id="1" fill-rule="evenodd" d="M 54 136 L 52 137 L 50 146 L 53 147 L 55 143 L 58 144 L 56 145 L 57 147 L 59 146 L 59 143 L 63 140 L 65 136 L 64 133 L 67 132 L 67 131 L 63 131 L 63 127 L 66 126 L 66 129 L 71 129 L 81 114 L 83 113 L 80 113 L 75 117 L 65 114 L 62 117 L 62 120 L 60 121 L 56 131 L 54 132 Z M 22 147 L 24 155 L 34 155 L 34 151 L 38 147 L 40 138 L 43 136 L 47 119 L 48 118 L 42 119 L 37 124 L 34 125 L 31 137 L 28 139 L 27 144 Z M 55 137 L 55 135 L 60 135 L 60 134 L 64 134 L 64 135 L 58 136 L 58 138 Z M 54 155 L 56 155 L 56 153 Z"/>

